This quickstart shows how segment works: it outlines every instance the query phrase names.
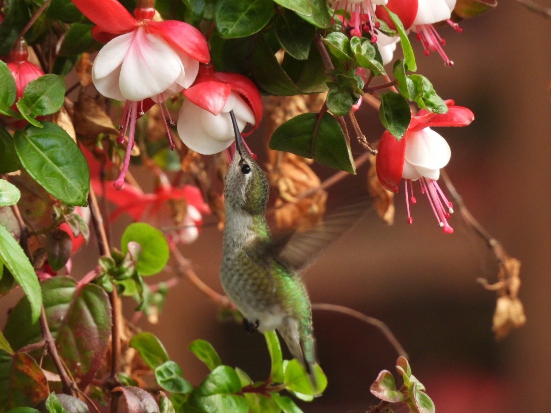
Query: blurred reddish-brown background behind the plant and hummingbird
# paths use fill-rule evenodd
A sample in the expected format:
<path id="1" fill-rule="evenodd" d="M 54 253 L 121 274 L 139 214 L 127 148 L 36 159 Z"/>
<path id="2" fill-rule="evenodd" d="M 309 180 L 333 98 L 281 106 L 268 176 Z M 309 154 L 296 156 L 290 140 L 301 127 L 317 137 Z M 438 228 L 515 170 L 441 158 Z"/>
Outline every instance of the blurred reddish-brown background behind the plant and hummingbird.
<path id="1" fill-rule="evenodd" d="M 549 0 L 539 3 L 551 7 Z M 407 225 L 402 189 L 394 226 L 383 225 L 371 211 L 309 269 L 306 282 L 312 302 L 345 305 L 383 320 L 409 353 L 413 372 L 439 413 L 551 411 L 551 20 L 502 0 L 461 27 L 461 34 L 440 31 L 453 68 L 434 53 L 425 57 L 410 37 L 418 73 L 444 99 L 455 99 L 476 116 L 471 126 L 438 129 L 452 147 L 447 170 L 474 216 L 522 261 L 526 326 L 495 343 L 490 331 L 495 294 L 475 281 L 495 281 L 493 255 L 458 214 L 450 221 L 455 232 L 444 235 L 420 194 L 412 210 L 414 224 Z M 364 104 L 357 116 L 368 139 L 378 139 L 377 113 Z M 249 139 L 251 148 L 265 159 L 261 131 L 255 136 Z M 358 155 L 362 150 L 354 144 Z M 315 170 L 322 178 L 332 173 L 319 166 Z M 366 171 L 363 166 L 358 176 L 331 188 L 329 204 L 364 191 Z M 152 180 L 139 169 L 133 173 Z M 118 236 L 128 223 L 127 217 L 117 221 Z M 205 227 L 198 241 L 181 249 L 197 274 L 220 292 L 221 247 L 222 233 Z M 97 255 L 93 238 L 75 257 L 74 275 L 92 268 Z M 165 271 L 147 281 L 170 275 Z M 18 298 L 11 294 L 0 302 L 0 325 Z M 135 306 L 125 301 L 128 317 Z M 255 380 L 268 376 L 263 337 L 218 322 L 217 307 L 187 280 L 170 291 L 159 324 L 142 319 L 138 325 L 160 338 L 193 384 L 207 373 L 187 350 L 198 338 L 209 340 L 225 364 L 239 366 Z M 377 373 L 395 372 L 395 351 L 374 327 L 343 314 L 315 312 L 314 325 L 329 385 L 321 398 L 300 406 L 305 412 L 365 411 L 376 403 L 369 385 Z"/>

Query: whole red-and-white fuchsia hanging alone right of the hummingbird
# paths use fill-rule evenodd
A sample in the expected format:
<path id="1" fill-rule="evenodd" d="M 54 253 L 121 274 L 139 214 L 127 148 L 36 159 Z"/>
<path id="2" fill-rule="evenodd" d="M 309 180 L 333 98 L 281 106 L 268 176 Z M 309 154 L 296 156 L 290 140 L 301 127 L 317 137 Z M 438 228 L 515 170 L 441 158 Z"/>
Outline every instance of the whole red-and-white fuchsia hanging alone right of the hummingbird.
<path id="1" fill-rule="evenodd" d="M 450 146 L 431 126 L 467 126 L 474 119 L 473 112 L 466 107 L 454 106 L 453 100 L 447 100 L 446 113 L 430 113 L 420 110 L 412 117 L 406 134 L 397 140 L 388 131 L 382 134 L 377 148 L 377 177 L 389 191 L 398 192 L 398 184 L 404 178 L 408 223 L 413 218 L 409 214 L 409 201 L 416 202 L 412 181 L 419 180 L 421 193 L 426 194 L 434 215 L 442 231 L 453 232 L 447 223 L 453 213 L 452 204 L 444 195 L 436 181 L 440 169 L 450 161 Z M 408 181 L 411 197 L 408 198 Z"/>

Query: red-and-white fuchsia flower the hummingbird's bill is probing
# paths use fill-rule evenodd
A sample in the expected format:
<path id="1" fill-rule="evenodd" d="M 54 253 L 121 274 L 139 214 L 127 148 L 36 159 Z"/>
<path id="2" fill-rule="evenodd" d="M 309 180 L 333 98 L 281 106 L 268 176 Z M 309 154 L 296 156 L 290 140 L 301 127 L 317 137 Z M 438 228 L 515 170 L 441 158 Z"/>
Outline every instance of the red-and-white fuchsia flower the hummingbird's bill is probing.
<path id="1" fill-rule="evenodd" d="M 212 64 L 199 66 L 195 83 L 183 94 L 178 134 L 200 154 L 218 153 L 235 142 L 230 111 L 240 132 L 247 123 L 258 127 L 262 119 L 262 99 L 252 81 L 240 74 L 215 72 Z"/>

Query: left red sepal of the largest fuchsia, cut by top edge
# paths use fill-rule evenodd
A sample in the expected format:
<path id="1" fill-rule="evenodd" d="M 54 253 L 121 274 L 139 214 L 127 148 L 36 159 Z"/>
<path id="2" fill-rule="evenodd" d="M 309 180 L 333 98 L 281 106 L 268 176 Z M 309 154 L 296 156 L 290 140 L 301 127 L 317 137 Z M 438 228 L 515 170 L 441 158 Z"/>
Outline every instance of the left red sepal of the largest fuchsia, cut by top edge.
<path id="1" fill-rule="evenodd" d="M 73 4 L 103 31 L 123 34 L 138 24 L 132 14 L 117 0 L 72 0 Z"/>

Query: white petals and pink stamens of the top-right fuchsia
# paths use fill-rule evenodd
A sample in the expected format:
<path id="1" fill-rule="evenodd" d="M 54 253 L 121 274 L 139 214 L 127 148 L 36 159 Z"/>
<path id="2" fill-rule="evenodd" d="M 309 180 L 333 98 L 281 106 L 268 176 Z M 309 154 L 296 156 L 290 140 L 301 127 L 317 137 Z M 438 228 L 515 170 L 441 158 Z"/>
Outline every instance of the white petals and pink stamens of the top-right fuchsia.
<path id="1" fill-rule="evenodd" d="M 446 66 L 453 66 L 453 62 L 442 48 L 446 41 L 440 37 L 433 24 L 445 20 L 458 33 L 461 32 L 459 25 L 450 20 L 455 2 L 456 0 L 418 0 L 417 15 L 412 27 L 412 31 L 417 33 L 417 40 L 423 44 L 425 56 L 429 56 L 430 52 L 438 52 Z"/>

